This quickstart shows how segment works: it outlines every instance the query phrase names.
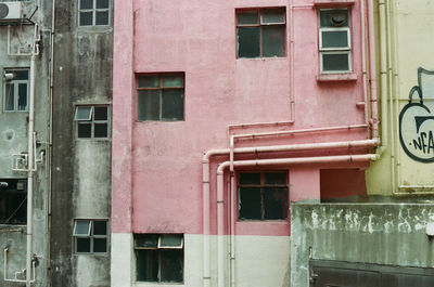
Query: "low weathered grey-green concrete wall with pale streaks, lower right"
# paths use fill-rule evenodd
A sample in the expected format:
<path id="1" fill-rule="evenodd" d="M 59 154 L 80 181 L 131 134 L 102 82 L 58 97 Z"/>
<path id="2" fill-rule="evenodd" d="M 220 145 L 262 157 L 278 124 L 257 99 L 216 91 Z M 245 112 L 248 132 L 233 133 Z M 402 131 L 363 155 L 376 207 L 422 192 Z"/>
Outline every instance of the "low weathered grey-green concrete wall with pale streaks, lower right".
<path id="1" fill-rule="evenodd" d="M 431 204 L 293 204 L 291 286 L 307 287 L 311 258 L 434 268 Z"/>

